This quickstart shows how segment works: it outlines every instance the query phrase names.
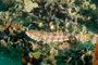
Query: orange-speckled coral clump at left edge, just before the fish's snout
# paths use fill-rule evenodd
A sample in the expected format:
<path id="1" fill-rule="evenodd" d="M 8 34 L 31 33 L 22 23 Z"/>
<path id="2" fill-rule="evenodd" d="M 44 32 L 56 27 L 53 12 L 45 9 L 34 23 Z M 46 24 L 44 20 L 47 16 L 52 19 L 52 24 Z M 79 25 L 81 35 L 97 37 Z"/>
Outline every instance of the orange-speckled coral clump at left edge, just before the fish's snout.
<path id="1" fill-rule="evenodd" d="M 0 25 L 0 31 L 5 31 L 8 28 L 11 34 L 13 34 L 13 31 L 14 32 L 24 32 L 25 31 L 25 28 L 20 23 L 13 22 L 11 24 L 11 22 L 4 21 L 1 24 L 2 25 Z"/>

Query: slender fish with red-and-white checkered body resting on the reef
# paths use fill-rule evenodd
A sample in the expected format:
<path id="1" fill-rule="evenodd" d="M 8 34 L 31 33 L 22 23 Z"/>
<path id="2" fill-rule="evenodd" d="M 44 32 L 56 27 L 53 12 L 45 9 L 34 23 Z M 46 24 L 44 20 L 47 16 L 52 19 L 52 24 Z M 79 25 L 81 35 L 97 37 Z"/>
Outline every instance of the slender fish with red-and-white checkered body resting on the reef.
<path id="1" fill-rule="evenodd" d="M 69 36 L 66 34 L 60 32 L 47 32 L 47 31 L 37 31 L 37 30 L 27 30 L 26 35 L 37 41 L 68 41 Z"/>

